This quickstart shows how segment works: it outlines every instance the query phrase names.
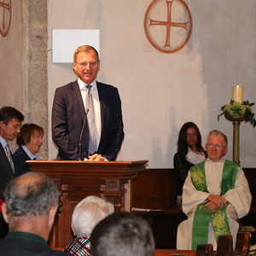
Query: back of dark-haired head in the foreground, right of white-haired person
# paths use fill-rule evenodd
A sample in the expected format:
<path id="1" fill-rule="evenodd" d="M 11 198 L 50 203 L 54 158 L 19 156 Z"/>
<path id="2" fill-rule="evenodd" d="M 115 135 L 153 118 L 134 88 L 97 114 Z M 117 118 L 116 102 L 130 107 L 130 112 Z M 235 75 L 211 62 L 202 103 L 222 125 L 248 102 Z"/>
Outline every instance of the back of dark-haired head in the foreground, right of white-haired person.
<path id="1" fill-rule="evenodd" d="M 130 212 L 114 212 L 90 236 L 91 256 L 152 256 L 154 237 L 148 223 Z"/>

